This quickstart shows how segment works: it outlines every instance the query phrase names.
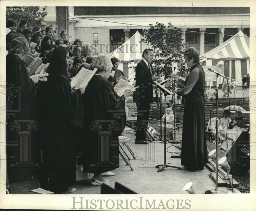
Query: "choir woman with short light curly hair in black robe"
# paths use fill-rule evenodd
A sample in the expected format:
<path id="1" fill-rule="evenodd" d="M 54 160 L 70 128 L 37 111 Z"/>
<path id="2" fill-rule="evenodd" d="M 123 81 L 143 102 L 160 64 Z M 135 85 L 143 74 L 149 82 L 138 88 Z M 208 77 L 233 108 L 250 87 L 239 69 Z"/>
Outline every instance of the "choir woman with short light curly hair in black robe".
<path id="1" fill-rule="evenodd" d="M 83 98 L 84 106 L 84 172 L 94 173 L 93 185 L 110 182 L 101 173 L 119 167 L 118 136 L 126 123 L 125 97 L 116 95 L 107 80 L 112 63 L 108 56 L 100 55 L 90 69 L 98 68 L 88 83 Z"/>

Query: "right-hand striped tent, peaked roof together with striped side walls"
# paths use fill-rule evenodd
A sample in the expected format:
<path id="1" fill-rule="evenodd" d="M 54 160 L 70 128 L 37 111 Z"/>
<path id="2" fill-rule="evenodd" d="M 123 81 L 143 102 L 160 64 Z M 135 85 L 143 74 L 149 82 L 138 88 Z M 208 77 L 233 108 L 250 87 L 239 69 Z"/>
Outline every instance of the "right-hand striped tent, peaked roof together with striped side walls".
<path id="1" fill-rule="evenodd" d="M 250 71 L 249 37 L 240 30 L 226 42 L 201 56 L 205 57 L 202 65 L 224 64 L 224 75 L 241 84 L 242 78 Z"/>

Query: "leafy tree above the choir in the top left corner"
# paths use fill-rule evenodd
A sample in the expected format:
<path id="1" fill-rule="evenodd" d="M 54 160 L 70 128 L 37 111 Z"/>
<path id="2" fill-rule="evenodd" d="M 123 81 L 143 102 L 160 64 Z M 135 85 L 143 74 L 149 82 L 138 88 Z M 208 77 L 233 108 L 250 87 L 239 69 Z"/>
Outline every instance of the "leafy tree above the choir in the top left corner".
<path id="1" fill-rule="evenodd" d="M 6 20 L 13 19 L 17 26 L 21 19 L 25 19 L 29 23 L 29 28 L 40 26 L 43 28 L 44 18 L 47 15 L 46 7 L 40 10 L 40 7 L 6 7 Z"/>

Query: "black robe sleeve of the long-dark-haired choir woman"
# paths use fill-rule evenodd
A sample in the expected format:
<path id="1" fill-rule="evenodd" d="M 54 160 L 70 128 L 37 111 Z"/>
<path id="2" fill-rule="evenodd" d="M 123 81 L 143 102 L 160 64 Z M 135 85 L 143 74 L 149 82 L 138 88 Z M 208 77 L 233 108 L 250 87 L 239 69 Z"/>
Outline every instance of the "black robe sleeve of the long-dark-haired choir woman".
<path id="1" fill-rule="evenodd" d="M 59 81 L 56 86 L 56 97 L 58 98 L 56 105 L 59 115 L 63 118 L 69 119 L 72 126 L 83 126 L 83 105 L 80 89 L 71 94 L 71 86 L 68 79 L 65 77 Z"/>

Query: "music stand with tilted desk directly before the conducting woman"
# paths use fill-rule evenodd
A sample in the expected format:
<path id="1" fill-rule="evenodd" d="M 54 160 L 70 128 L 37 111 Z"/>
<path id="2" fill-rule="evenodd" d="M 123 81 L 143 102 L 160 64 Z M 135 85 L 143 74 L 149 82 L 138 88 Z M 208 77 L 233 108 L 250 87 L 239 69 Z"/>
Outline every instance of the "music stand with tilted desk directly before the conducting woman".
<path id="1" fill-rule="evenodd" d="M 164 168 L 167 168 L 167 167 L 171 167 L 171 168 L 177 168 L 177 169 L 182 169 L 180 167 L 177 167 L 177 166 L 169 166 L 166 164 L 166 96 L 167 95 L 173 95 L 172 92 L 170 92 L 168 89 L 166 89 L 163 85 L 161 85 L 160 83 L 157 83 L 156 81 L 154 82 L 158 88 L 160 90 L 162 90 L 162 92 L 164 93 L 164 164 L 163 165 L 157 165 L 155 166 L 156 168 L 159 168 L 157 170 L 157 172 L 161 172 Z"/>

